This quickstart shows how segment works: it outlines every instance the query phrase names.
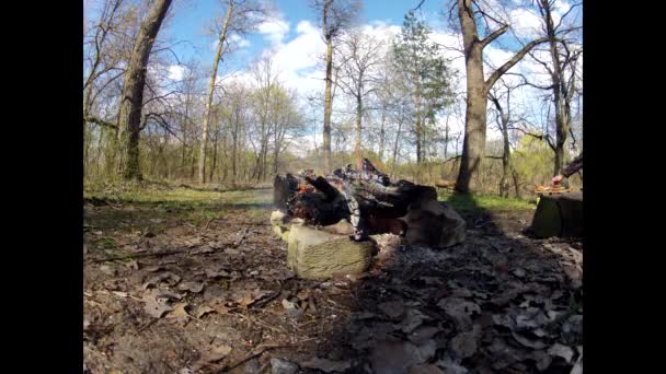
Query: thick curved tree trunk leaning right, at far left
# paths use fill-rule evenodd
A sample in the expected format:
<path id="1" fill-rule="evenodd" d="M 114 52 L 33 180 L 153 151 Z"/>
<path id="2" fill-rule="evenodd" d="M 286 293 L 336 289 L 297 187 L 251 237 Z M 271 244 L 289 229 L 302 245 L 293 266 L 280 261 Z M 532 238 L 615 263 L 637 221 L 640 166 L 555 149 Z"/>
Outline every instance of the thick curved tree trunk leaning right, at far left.
<path id="1" fill-rule="evenodd" d="M 119 174 L 125 179 L 141 178 L 139 135 L 148 58 L 170 5 L 171 0 L 156 0 L 152 4 L 141 22 L 125 72 L 118 109 Z"/>

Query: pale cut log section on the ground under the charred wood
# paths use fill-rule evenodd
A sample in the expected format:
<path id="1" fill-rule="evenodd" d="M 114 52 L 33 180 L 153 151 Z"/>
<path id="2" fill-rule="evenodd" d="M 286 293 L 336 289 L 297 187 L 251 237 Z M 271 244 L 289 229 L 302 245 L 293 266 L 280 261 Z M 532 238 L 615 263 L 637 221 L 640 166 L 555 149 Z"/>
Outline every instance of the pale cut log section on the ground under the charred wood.
<path id="1" fill-rule="evenodd" d="M 370 266 L 371 242 L 351 241 L 308 226 L 292 224 L 289 231 L 287 266 L 305 279 L 328 279 L 334 274 L 360 274 Z"/>

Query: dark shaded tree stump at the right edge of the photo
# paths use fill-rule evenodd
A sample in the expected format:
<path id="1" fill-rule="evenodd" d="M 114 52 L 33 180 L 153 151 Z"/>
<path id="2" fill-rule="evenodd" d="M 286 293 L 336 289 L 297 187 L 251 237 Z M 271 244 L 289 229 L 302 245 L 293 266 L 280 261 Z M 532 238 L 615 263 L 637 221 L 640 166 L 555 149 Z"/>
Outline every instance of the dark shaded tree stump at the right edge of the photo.
<path id="1" fill-rule="evenodd" d="M 542 196 L 532 219 L 537 237 L 582 237 L 583 194 L 569 192 Z"/>

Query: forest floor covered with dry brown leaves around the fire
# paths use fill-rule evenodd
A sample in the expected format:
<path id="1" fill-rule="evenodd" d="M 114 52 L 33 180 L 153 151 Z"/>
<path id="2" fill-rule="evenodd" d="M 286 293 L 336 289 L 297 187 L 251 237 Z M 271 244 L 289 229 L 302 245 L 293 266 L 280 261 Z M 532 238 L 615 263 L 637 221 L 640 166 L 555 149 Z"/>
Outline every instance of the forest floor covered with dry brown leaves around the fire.
<path id="1" fill-rule="evenodd" d="M 533 204 L 449 201 L 462 245 L 379 235 L 363 277 L 295 278 L 271 189 L 95 190 L 84 200 L 89 373 L 574 373 L 583 246 L 524 234 Z"/>

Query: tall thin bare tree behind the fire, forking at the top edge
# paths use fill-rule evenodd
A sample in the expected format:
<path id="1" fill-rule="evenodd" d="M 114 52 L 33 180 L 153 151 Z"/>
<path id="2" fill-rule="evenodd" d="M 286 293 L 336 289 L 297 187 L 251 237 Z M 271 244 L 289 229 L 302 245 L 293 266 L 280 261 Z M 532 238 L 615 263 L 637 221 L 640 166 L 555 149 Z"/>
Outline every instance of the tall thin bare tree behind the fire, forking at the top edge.
<path id="1" fill-rule="evenodd" d="M 326 75 L 324 89 L 323 156 L 324 173 L 331 172 L 331 113 L 333 110 L 333 44 L 340 33 L 355 20 L 360 11 L 359 0 L 312 0 L 312 8 L 321 16 L 326 43 Z"/>

